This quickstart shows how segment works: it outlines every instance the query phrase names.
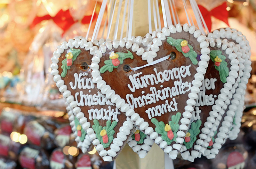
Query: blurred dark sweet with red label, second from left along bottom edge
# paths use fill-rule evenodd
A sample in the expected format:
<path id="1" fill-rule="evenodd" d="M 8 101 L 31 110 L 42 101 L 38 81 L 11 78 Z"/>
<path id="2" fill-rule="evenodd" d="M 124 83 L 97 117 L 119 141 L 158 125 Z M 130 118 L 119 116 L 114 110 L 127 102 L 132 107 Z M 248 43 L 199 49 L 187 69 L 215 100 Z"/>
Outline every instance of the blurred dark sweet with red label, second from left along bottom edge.
<path id="1" fill-rule="evenodd" d="M 47 169 L 50 166 L 48 154 L 38 146 L 25 146 L 20 151 L 19 163 L 27 169 Z"/>

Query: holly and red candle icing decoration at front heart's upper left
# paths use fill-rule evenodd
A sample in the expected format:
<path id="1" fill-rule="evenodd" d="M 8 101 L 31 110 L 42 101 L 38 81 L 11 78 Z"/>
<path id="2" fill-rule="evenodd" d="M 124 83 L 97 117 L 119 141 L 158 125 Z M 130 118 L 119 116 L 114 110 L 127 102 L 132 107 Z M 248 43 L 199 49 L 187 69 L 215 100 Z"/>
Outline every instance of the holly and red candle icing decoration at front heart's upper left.
<path id="1" fill-rule="evenodd" d="M 130 52 L 128 50 L 127 50 L 127 52 L 128 53 L 112 52 L 109 55 L 109 59 L 104 61 L 105 65 L 100 68 L 100 73 L 104 73 L 107 70 L 109 72 L 112 72 L 114 70 L 114 68 L 118 68 L 118 66 L 120 64 L 124 63 L 124 59 L 127 59 L 127 58 L 133 59 L 132 52 Z"/>

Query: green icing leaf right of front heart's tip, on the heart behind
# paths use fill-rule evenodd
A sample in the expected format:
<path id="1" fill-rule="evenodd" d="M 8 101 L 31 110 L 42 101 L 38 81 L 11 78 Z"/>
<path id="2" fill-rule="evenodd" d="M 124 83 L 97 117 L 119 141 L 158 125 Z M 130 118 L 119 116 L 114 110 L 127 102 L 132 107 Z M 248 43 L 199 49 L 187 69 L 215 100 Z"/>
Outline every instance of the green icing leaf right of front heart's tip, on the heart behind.
<path id="1" fill-rule="evenodd" d="M 190 142 L 186 143 L 185 141 L 183 142 L 187 149 L 192 148 L 193 143 L 196 141 L 196 136 L 200 133 L 200 126 L 202 124 L 201 120 L 197 120 L 196 122 L 193 122 L 191 124 L 191 128 L 188 130 L 190 133 Z"/>

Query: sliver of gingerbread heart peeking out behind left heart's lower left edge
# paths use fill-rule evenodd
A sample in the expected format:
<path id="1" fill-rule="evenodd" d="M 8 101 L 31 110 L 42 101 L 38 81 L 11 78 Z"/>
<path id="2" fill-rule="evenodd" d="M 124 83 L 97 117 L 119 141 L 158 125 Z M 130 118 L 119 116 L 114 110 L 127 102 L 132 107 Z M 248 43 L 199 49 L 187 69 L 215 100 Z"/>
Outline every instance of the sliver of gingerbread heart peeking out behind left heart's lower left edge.
<path id="1" fill-rule="evenodd" d="M 84 129 L 81 127 L 79 120 L 73 114 L 71 108 L 69 106 L 66 107 L 68 111 L 68 120 L 71 126 L 72 132 L 75 136 L 75 141 L 77 143 L 77 147 L 82 150 L 83 153 L 93 150 L 92 141 L 90 137 L 86 134 Z"/>

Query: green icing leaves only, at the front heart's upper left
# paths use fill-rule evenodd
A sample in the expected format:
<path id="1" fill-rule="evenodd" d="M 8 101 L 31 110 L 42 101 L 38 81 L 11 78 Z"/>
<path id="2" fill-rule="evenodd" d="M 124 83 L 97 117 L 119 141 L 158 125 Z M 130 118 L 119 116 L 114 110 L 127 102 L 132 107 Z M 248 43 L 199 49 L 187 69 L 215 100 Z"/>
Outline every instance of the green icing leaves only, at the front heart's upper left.
<path id="1" fill-rule="evenodd" d="M 120 61 L 120 64 L 124 63 L 124 59 L 127 59 L 127 58 L 133 59 L 132 52 L 130 52 L 129 50 L 127 50 L 127 52 L 128 53 L 116 52 L 116 54 L 118 55 L 118 60 Z M 119 64 L 118 66 L 114 66 L 111 59 L 105 60 L 104 63 L 105 65 L 100 68 L 100 73 L 104 73 L 107 70 L 109 72 L 112 72 L 114 68 L 118 68 L 118 66 L 120 65 Z"/>

